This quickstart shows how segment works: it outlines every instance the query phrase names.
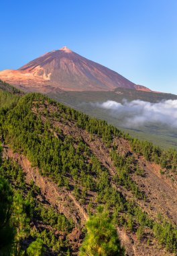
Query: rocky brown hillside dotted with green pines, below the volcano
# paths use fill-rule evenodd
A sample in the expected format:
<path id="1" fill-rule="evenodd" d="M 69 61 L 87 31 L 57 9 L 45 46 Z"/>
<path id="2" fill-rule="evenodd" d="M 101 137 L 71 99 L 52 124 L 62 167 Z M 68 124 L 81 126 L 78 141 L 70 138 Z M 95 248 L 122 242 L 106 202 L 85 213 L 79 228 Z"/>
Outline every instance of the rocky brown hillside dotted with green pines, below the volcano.
<path id="1" fill-rule="evenodd" d="M 12 187 L 22 249 L 36 241 L 46 255 L 78 255 L 88 215 L 104 205 L 127 255 L 175 255 L 175 150 L 42 94 L 0 92 L 8 97 L 0 104 L 1 177 Z"/>

